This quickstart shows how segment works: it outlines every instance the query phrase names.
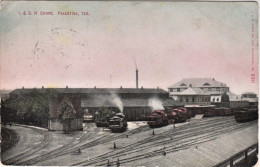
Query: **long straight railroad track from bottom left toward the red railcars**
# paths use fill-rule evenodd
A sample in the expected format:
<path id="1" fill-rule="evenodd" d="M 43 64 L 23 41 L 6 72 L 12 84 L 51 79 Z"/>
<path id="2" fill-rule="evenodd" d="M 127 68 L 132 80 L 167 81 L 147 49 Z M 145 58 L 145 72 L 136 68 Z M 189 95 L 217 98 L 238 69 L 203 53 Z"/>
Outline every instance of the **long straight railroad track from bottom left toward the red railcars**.
<path id="1" fill-rule="evenodd" d="M 105 144 L 105 143 L 113 141 L 115 139 L 125 137 L 126 135 L 130 136 L 130 135 L 140 133 L 142 131 L 146 131 L 146 130 L 149 130 L 149 129 L 150 128 L 148 126 L 142 126 L 142 127 L 133 129 L 131 131 L 125 132 L 123 134 L 108 133 L 108 134 L 102 135 L 101 137 L 99 137 L 99 138 L 97 138 L 97 139 L 95 139 L 91 142 L 88 142 L 86 144 L 70 144 L 68 146 L 64 146 L 64 147 L 55 149 L 51 152 L 45 153 L 43 155 L 39 155 L 37 157 L 31 158 L 31 159 L 28 159 L 28 160 L 20 161 L 18 163 L 18 165 L 33 165 L 33 164 L 36 164 L 38 162 L 42 162 L 42 161 L 45 161 L 45 160 L 48 160 L 48 159 L 51 159 L 51 158 L 56 158 L 56 157 L 66 155 L 66 154 L 69 154 L 69 153 L 75 153 L 75 152 L 78 151 L 79 148 L 80 149 L 86 149 L 86 148 L 90 148 L 90 147 L 93 147 L 93 146 L 96 146 L 96 145 L 99 145 L 99 144 Z M 89 138 L 90 137 L 91 136 L 89 136 Z M 89 138 L 86 138 L 85 140 L 87 140 Z"/>

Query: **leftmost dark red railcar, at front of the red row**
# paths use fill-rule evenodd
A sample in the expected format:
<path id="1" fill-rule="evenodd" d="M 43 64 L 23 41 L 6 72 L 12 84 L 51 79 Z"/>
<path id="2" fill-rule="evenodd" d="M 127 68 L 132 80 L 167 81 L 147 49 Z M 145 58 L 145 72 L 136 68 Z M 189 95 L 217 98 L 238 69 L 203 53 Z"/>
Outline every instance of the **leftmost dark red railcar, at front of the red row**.
<path id="1" fill-rule="evenodd" d="M 147 117 L 150 128 L 168 125 L 168 114 L 165 110 L 155 110 Z"/>

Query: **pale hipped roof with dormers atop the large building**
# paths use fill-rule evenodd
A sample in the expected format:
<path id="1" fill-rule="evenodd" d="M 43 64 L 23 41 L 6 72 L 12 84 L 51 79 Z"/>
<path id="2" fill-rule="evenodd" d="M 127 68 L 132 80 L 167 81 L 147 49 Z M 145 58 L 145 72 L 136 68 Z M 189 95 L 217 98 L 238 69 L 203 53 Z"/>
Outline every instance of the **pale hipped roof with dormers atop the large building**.
<path id="1" fill-rule="evenodd" d="M 216 81 L 214 78 L 184 78 L 168 88 L 187 87 L 227 87 L 225 83 Z"/>

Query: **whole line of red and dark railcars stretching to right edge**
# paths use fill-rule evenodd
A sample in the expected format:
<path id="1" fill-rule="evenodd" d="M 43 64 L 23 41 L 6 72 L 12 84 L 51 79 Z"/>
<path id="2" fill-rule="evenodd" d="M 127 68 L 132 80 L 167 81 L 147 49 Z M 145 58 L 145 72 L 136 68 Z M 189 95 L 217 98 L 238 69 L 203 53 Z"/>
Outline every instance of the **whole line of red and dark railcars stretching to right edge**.
<path id="1" fill-rule="evenodd" d="M 237 122 L 247 122 L 258 119 L 257 108 L 216 108 L 214 105 L 209 105 L 184 106 L 175 109 L 155 110 L 147 117 L 147 123 L 151 128 L 161 127 L 168 124 L 185 122 L 197 114 L 202 114 L 203 117 L 235 115 Z"/>

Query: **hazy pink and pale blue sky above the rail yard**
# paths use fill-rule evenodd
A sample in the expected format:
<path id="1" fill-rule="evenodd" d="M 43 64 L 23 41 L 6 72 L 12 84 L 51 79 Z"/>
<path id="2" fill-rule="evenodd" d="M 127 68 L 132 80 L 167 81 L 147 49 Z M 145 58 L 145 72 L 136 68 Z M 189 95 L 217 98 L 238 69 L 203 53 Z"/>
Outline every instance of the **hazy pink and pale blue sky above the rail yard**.
<path id="1" fill-rule="evenodd" d="M 5 1 L 0 89 L 135 88 L 138 68 L 144 88 L 215 78 L 258 93 L 257 30 L 255 2 Z"/>

